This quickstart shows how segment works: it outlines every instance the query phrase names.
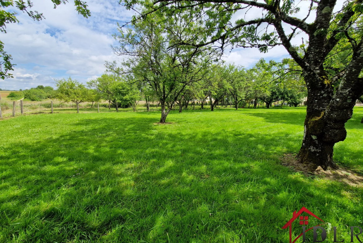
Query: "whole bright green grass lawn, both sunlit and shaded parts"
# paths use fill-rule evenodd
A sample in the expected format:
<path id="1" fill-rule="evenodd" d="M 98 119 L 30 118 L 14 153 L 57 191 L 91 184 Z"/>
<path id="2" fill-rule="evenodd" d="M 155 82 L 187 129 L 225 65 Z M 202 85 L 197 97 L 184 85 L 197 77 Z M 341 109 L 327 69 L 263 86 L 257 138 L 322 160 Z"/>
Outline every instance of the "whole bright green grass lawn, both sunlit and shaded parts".
<path id="1" fill-rule="evenodd" d="M 349 242 L 347 226 L 363 225 L 363 188 L 278 160 L 298 152 L 305 113 L 183 110 L 168 125 L 154 125 L 159 112 L 0 121 L 0 242 L 289 242 L 281 227 L 302 206 Z M 355 108 L 334 157 L 360 173 L 362 116 Z"/>

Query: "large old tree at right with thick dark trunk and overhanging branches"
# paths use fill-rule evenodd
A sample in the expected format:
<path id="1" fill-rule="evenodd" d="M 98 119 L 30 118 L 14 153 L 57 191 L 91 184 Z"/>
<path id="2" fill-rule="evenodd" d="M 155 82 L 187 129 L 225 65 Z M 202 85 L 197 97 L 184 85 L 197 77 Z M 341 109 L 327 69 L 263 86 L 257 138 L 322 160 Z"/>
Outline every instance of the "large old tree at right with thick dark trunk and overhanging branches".
<path id="1" fill-rule="evenodd" d="M 346 138 L 344 124 L 352 116 L 355 100 L 363 93 L 362 0 L 346 1 L 335 13 L 336 0 L 311 0 L 303 19 L 291 16 L 302 8 L 289 0 L 265 3 L 166 0 L 152 4 L 146 0 L 124 0 L 123 3 L 127 8 L 141 4 L 149 8 L 148 13 L 158 11 L 168 17 L 190 11 L 191 23 L 200 18 L 204 20 L 195 33 L 204 33 L 206 38 L 183 38 L 175 46 L 202 47 L 213 43 L 221 50 L 227 46 L 257 47 L 262 52 L 277 45 L 284 46 L 301 68 L 308 93 L 305 132 L 297 158 L 312 169 L 335 166 L 334 144 Z M 234 13 L 246 8 L 260 9 L 263 17 L 240 19 L 233 24 Z M 311 11 L 316 11 L 316 16 L 309 23 L 306 19 Z M 134 21 L 142 21 L 148 13 L 135 16 Z M 290 28 L 283 28 L 283 25 L 291 27 L 292 31 L 287 32 Z M 303 52 L 292 42 L 299 32 L 309 38 L 300 46 Z M 342 50 L 348 53 L 344 62 L 332 68 L 332 57 L 339 56 Z"/>

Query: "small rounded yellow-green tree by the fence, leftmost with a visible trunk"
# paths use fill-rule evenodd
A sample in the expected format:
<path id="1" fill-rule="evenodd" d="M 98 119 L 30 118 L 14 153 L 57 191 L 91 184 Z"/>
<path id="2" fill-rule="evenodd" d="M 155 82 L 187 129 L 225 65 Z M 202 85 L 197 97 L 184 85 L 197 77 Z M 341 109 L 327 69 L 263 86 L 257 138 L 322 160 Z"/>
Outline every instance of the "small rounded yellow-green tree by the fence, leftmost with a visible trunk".
<path id="1" fill-rule="evenodd" d="M 72 101 L 77 105 L 77 113 L 79 113 L 79 103 L 89 99 L 89 89 L 85 85 L 78 83 L 77 80 L 72 80 L 70 77 L 59 79 L 56 81 L 57 93 L 56 98 L 64 102 Z"/>

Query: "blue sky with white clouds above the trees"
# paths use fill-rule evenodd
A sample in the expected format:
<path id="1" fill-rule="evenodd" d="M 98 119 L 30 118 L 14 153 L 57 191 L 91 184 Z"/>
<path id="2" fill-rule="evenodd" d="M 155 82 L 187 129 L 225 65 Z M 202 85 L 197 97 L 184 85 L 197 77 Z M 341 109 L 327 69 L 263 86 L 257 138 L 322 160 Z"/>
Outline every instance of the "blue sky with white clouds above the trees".
<path id="1" fill-rule="evenodd" d="M 117 31 L 117 22 L 129 21 L 133 12 L 114 1 L 87 1 L 91 17 L 83 18 L 74 9 L 72 1 L 53 9 L 50 0 L 34 1 L 32 10 L 43 13 L 44 20 L 33 21 L 26 14 L 17 15 L 19 24 L 7 24 L 7 34 L 1 33 L 5 50 L 16 63 L 13 79 L 0 80 L 0 88 L 28 89 L 37 85 L 54 87 L 54 79 L 71 76 L 82 83 L 100 76 L 106 60 L 122 57 L 112 53 L 111 45 L 117 45 L 111 36 Z M 302 5 L 309 4 L 305 1 Z M 303 12 L 298 17 L 303 16 Z M 255 18 L 258 12 L 250 11 L 247 18 Z M 300 15 L 300 16 L 299 16 Z M 312 14 L 314 17 L 314 13 Z M 238 19 L 244 13 L 237 13 Z M 303 17 L 302 17 L 303 18 Z M 286 26 L 288 28 L 288 26 Z M 301 37 L 295 38 L 296 44 Z M 284 47 L 276 47 L 267 54 L 257 49 L 234 49 L 226 52 L 227 63 L 252 67 L 261 57 L 280 60 L 288 54 Z"/>

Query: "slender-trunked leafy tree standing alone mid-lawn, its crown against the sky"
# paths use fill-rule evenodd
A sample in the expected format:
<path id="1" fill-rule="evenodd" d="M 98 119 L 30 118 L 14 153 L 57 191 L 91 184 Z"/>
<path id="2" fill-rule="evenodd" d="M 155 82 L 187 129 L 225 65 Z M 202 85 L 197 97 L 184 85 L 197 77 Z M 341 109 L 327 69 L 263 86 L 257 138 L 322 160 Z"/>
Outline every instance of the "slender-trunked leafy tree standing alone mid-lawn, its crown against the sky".
<path id="1" fill-rule="evenodd" d="M 201 20 L 197 21 L 201 22 Z M 147 84 L 161 104 L 160 123 L 166 117 L 186 87 L 207 74 L 207 64 L 212 59 L 209 47 L 194 48 L 172 46 L 180 35 L 190 36 L 192 28 L 185 18 L 148 16 L 144 22 L 132 22 L 126 30 L 119 28 L 114 35 L 119 42 L 114 53 L 128 56 L 122 68 L 109 63 L 109 70 L 119 74 L 132 74 L 139 86 Z"/>

